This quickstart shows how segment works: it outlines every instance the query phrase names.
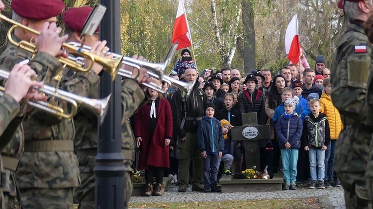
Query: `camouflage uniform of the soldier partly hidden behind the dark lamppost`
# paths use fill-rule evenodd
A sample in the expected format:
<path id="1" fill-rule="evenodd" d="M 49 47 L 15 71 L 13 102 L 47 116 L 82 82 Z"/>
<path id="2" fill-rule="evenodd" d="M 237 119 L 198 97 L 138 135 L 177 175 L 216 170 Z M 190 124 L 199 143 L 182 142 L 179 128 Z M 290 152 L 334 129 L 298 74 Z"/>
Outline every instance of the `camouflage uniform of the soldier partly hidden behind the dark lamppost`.
<path id="1" fill-rule="evenodd" d="M 97 75 L 96 75 L 97 76 Z M 97 76 L 98 78 L 98 76 Z M 140 106 L 140 103 L 145 99 L 144 91 L 133 80 L 124 80 L 122 83 L 122 153 L 125 158 L 124 166 L 125 172 L 125 203 L 128 205 L 132 194 L 132 180 L 131 173 L 132 166 L 132 152 L 134 150 L 134 137 L 132 128 L 129 125 L 128 119 Z M 79 89 L 70 88 L 69 91 L 77 92 Z M 97 98 L 97 85 L 92 86 L 90 92 L 85 95 L 90 98 Z M 76 190 L 74 196 L 79 201 L 79 209 L 94 209 L 94 186 L 95 176 L 93 168 L 96 164 L 95 155 L 97 153 L 97 118 L 93 113 L 82 108 L 82 110 L 75 116 L 76 137 L 75 149 L 79 160 L 80 176 L 82 186 Z M 125 151 L 125 150 L 129 150 Z M 127 206 L 128 207 L 128 206 Z"/>

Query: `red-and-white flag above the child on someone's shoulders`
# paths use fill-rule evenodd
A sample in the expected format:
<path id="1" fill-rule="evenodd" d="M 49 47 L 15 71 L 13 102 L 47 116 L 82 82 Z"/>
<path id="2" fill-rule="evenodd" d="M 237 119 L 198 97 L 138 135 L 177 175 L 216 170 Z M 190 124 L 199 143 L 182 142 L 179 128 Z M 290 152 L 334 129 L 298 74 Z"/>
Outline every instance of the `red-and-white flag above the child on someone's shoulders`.
<path id="1" fill-rule="evenodd" d="M 191 46 L 190 30 L 187 21 L 187 14 L 183 0 L 179 0 L 178 13 L 176 14 L 172 43 L 178 42 L 178 48 L 183 49 Z"/>

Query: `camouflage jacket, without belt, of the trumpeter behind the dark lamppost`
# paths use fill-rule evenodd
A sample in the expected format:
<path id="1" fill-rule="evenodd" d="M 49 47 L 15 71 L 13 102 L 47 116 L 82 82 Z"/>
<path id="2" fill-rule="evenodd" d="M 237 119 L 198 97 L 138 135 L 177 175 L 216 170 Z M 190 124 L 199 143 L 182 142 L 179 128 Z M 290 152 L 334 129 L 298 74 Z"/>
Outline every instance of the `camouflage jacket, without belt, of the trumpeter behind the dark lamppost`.
<path id="1" fill-rule="evenodd" d="M 88 94 L 90 98 L 97 98 L 98 89 L 92 88 Z M 135 111 L 145 103 L 144 91 L 133 80 L 126 79 L 121 85 L 121 99 L 122 99 L 122 149 L 134 150 L 134 136 L 132 128 L 128 122 L 129 118 Z M 93 172 L 95 166 L 94 156 L 80 156 L 79 150 L 97 149 L 97 118 L 85 108 L 74 117 L 76 126 L 75 149 L 78 151 L 78 159 L 80 163 L 81 172 Z M 132 171 L 132 162 L 125 160 L 126 170 Z"/>

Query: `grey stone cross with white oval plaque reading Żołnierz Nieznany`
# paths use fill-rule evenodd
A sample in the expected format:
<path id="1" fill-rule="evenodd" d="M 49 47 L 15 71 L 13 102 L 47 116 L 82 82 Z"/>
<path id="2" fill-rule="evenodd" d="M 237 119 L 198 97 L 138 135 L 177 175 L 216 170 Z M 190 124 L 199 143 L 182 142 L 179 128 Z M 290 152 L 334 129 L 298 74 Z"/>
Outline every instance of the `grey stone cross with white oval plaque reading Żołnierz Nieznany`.
<path id="1" fill-rule="evenodd" d="M 232 140 L 243 141 L 245 146 L 246 168 L 257 166 L 258 171 L 264 168 L 260 167 L 260 139 L 271 139 L 270 125 L 258 125 L 257 113 L 243 113 L 242 124 L 240 127 L 231 129 Z"/>

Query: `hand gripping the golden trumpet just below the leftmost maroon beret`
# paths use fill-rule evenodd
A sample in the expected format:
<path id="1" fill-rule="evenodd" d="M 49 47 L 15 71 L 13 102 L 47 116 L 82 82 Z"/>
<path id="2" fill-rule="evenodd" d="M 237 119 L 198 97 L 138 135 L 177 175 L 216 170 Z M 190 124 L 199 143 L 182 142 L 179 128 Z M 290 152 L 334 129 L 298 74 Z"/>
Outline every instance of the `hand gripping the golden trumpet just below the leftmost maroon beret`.
<path id="1" fill-rule="evenodd" d="M 35 46 L 38 52 L 45 52 L 54 57 L 63 56 L 67 58 L 67 54 L 61 50 L 61 45 L 64 43 L 68 35 L 60 37 L 62 29 L 56 26 L 56 23 L 44 22 L 40 30 L 40 35 L 36 36 Z"/>

